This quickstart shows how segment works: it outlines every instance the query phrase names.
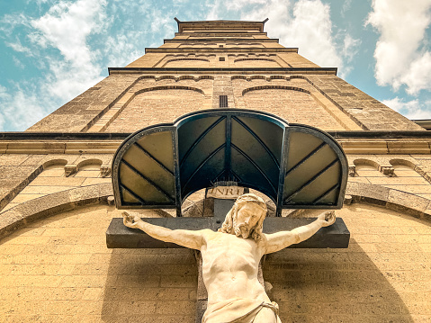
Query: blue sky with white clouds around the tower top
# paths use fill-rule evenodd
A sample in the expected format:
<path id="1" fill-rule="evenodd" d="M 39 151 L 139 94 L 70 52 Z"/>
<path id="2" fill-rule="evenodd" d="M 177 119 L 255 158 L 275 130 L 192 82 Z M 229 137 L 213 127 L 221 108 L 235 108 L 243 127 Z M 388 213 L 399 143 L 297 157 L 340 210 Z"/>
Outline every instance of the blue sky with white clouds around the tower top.
<path id="1" fill-rule="evenodd" d="M 431 119 L 431 0 L 0 0 L 0 131 L 22 131 L 174 37 L 256 20 L 410 119 Z"/>

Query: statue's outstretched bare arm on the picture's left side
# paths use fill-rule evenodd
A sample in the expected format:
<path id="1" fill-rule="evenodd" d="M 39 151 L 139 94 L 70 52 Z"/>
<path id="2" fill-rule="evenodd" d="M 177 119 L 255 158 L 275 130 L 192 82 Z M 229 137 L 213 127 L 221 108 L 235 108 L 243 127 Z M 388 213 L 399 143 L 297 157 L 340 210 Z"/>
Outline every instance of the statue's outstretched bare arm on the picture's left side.
<path id="1" fill-rule="evenodd" d="M 204 244 L 202 230 L 167 229 L 148 222 L 144 222 L 137 215 L 122 212 L 123 223 L 126 227 L 141 229 L 148 236 L 165 242 L 172 242 L 179 246 L 201 250 Z"/>

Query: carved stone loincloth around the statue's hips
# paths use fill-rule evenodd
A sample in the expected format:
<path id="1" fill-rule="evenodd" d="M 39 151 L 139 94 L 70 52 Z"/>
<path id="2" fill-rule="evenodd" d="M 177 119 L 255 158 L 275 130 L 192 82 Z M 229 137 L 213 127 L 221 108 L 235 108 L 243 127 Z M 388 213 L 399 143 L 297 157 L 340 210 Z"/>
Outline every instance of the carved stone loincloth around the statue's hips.
<path id="1" fill-rule="evenodd" d="M 253 323 L 264 308 L 273 310 L 276 322 L 281 323 L 277 303 L 251 299 L 230 299 L 213 304 L 203 314 L 202 323 Z"/>

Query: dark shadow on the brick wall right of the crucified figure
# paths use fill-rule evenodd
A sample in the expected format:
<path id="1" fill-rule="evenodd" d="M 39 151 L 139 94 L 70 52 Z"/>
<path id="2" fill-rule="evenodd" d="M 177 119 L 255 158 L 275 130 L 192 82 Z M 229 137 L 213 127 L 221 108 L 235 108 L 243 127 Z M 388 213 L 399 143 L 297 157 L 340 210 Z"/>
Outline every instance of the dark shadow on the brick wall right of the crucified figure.
<path id="1" fill-rule="evenodd" d="M 266 258 L 265 282 L 283 322 L 413 322 L 400 295 L 351 238 L 348 249 L 285 249 Z"/>

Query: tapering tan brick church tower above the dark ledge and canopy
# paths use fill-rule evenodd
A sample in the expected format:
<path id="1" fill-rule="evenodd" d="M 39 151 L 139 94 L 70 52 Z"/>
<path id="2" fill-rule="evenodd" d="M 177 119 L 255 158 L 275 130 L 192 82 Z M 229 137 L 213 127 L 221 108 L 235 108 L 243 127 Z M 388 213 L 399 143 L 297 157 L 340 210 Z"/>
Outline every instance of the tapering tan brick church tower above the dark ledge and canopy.
<path id="1" fill-rule="evenodd" d="M 175 38 L 65 104 L 29 131 L 133 132 L 188 112 L 274 113 L 327 131 L 423 130 L 270 39 L 265 22 L 178 22 Z"/>

